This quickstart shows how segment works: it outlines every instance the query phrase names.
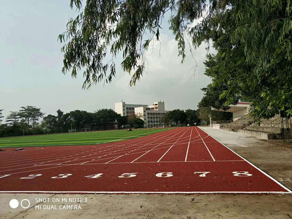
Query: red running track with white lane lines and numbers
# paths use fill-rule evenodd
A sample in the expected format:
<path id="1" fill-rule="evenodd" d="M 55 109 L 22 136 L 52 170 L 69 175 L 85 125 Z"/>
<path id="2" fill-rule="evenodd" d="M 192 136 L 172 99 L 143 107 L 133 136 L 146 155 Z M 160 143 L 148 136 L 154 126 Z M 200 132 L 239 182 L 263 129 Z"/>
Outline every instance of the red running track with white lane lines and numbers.
<path id="1" fill-rule="evenodd" d="M 2 193 L 275 193 L 291 190 L 198 127 L 91 146 L 6 149 Z"/>

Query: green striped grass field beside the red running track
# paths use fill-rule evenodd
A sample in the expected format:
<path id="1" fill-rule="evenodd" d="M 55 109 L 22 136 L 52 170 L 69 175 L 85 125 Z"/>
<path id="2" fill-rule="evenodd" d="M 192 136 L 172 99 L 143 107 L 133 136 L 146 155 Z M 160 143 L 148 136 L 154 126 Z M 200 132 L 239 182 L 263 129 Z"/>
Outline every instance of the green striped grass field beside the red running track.
<path id="1" fill-rule="evenodd" d="M 4 147 L 39 147 L 39 146 L 66 146 L 66 145 L 93 145 L 106 142 L 123 141 L 139 138 L 169 130 L 160 129 L 126 129 L 100 132 L 76 132 L 50 135 L 30 135 L 19 137 L 0 138 L 0 148 Z"/>

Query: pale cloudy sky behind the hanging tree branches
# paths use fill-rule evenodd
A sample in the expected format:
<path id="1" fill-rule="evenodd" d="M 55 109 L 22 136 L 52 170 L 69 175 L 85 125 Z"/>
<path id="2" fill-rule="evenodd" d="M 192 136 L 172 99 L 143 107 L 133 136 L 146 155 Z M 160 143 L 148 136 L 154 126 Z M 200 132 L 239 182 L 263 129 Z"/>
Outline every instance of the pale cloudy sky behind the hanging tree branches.
<path id="1" fill-rule="evenodd" d="M 77 15 L 69 3 L 69 0 L 1 3 L 0 109 L 4 109 L 4 120 L 9 111 L 27 105 L 41 108 L 46 115 L 56 115 L 58 109 L 64 113 L 75 109 L 88 112 L 114 109 L 114 103 L 121 100 L 128 104 L 161 100 L 166 110 L 197 109 L 203 97 L 200 89 L 211 82 L 204 75 L 206 45 L 194 51 L 195 60 L 189 54 L 181 64 L 167 18 L 160 30 L 160 42 L 155 39 L 153 48 L 146 53 L 147 74 L 135 87 L 129 86 L 131 75 L 119 67 L 122 60 L 117 60 L 117 76 L 111 84 L 99 83 L 90 90 L 82 90 L 83 72 L 77 78 L 70 73 L 63 75 L 62 45 L 57 38 L 66 29 L 69 18 Z"/>

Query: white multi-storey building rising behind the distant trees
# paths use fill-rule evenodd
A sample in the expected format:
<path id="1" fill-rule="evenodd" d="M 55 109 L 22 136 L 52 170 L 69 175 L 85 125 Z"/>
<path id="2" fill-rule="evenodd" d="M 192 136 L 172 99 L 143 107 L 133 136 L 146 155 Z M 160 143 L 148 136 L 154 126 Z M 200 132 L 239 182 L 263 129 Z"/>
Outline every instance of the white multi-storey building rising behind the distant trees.
<path id="1" fill-rule="evenodd" d="M 130 113 L 141 113 L 144 121 L 144 128 L 162 127 L 164 126 L 162 120 L 163 115 L 168 112 L 165 110 L 164 101 L 154 102 L 152 105 L 143 104 L 126 104 L 125 102 L 115 103 L 115 112 L 122 116 Z"/>

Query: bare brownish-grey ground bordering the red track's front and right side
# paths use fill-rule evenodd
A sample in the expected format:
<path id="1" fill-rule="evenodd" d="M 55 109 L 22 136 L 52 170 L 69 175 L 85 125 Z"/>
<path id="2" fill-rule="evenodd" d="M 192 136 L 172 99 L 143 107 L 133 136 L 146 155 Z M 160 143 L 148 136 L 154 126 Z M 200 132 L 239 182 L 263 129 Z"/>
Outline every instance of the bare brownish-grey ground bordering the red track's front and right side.
<path id="1" fill-rule="evenodd" d="M 260 140 L 240 133 L 201 127 L 205 132 L 292 188 L 292 144 Z M 87 198 L 81 210 L 60 210 L 53 198 Z M 11 199 L 31 201 L 27 209 L 12 209 Z M 35 202 L 35 198 L 50 198 Z M 292 195 L 67 195 L 0 194 L 0 218 L 291 218 Z M 40 205 L 41 209 L 35 209 Z M 57 205 L 57 210 L 44 206 Z"/>

